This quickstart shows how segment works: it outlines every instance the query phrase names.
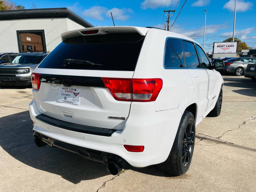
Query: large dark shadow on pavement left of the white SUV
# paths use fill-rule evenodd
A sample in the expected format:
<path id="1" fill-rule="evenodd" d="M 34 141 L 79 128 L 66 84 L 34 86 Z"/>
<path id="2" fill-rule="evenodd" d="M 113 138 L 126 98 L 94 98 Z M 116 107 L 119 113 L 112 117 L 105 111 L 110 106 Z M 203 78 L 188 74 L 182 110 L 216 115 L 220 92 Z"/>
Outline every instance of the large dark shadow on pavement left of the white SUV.
<path id="1" fill-rule="evenodd" d="M 39 170 L 79 183 L 109 175 L 104 164 L 77 154 L 45 146 L 36 147 L 29 112 L 0 118 L 0 146 L 18 161 Z"/>

